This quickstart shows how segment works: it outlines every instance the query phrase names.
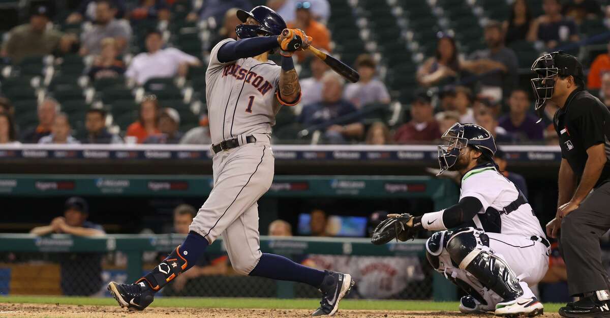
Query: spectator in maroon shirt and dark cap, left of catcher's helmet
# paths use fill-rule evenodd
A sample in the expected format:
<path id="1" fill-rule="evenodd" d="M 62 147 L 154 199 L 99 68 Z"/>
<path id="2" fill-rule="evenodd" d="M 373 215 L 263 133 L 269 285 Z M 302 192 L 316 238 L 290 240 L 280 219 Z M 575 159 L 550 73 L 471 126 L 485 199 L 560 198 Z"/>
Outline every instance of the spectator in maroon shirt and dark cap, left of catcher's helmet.
<path id="1" fill-rule="evenodd" d="M 434 120 L 432 99 L 425 90 L 415 94 L 411 103 L 411 121 L 400 126 L 394 134 L 396 143 L 431 142 L 440 137 L 439 123 Z"/>

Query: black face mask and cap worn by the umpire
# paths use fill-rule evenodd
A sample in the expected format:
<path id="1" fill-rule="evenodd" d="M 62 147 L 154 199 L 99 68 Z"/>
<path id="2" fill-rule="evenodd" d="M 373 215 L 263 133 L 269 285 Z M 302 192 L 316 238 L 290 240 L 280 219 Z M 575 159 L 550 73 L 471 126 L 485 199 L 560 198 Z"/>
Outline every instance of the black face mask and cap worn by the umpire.
<path id="1" fill-rule="evenodd" d="M 576 57 L 561 51 L 543 54 L 534 61 L 531 70 L 538 76 L 531 79 L 536 96 L 535 110 L 539 110 L 553 96 L 554 76 L 572 75 L 575 79 L 584 80 L 583 65 Z"/>

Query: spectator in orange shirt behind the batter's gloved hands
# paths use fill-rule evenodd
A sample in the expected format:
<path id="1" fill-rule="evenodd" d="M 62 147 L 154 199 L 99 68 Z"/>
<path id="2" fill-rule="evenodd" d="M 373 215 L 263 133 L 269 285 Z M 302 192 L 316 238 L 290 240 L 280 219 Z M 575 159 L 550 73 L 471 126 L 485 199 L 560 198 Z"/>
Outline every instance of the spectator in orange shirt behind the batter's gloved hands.
<path id="1" fill-rule="evenodd" d="M 331 51 L 331 32 L 328 28 L 318 21 L 315 21 L 311 12 L 311 2 L 296 2 L 296 18 L 293 22 L 288 23 L 290 29 L 301 29 L 305 34 L 312 37 L 311 45 L 318 49 Z M 302 62 L 307 54 L 307 51 L 299 50 L 295 52 L 299 62 Z"/>

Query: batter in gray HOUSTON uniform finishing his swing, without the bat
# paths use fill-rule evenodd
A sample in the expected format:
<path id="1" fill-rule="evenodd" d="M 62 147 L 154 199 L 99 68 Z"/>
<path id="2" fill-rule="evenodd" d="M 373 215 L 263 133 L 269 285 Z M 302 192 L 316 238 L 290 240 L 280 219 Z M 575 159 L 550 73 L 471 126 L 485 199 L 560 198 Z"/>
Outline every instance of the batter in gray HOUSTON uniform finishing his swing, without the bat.
<path id="1" fill-rule="evenodd" d="M 257 200 L 271 186 L 274 171 L 271 126 L 281 105 L 295 105 L 301 98 L 292 54 L 312 39 L 300 29 L 286 29 L 281 16 L 262 5 L 239 10 L 237 17 L 243 23 L 235 28 L 239 40 L 228 38 L 214 46 L 206 73 L 212 192 L 187 238 L 166 259 L 134 284 L 111 282 L 108 289 L 121 307 L 142 310 L 222 235 L 236 272 L 310 284 L 323 293 L 313 316 L 332 315 L 354 284 L 349 274 L 301 266 L 261 253 L 259 246 Z M 267 59 L 278 50 L 281 66 Z"/>

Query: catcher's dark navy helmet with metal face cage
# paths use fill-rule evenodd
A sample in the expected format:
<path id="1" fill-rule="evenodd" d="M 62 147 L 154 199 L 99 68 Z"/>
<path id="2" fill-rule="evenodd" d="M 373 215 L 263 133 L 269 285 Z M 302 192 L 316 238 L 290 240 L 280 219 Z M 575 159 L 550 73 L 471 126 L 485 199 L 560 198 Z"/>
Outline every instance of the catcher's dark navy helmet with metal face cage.
<path id="1" fill-rule="evenodd" d="M 460 150 L 466 146 L 474 146 L 493 162 L 493 154 L 497 147 L 492 134 L 487 129 L 475 125 L 455 123 L 447 129 L 441 138 L 447 141 L 446 145 L 439 145 L 439 175 L 458 161 Z"/>

